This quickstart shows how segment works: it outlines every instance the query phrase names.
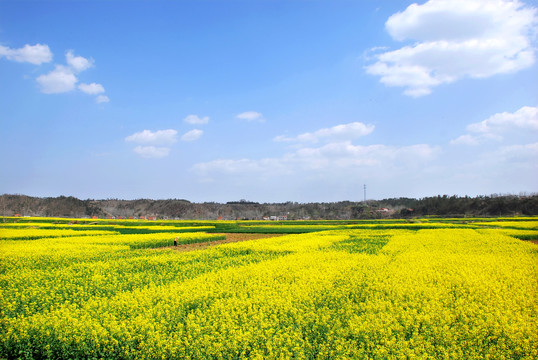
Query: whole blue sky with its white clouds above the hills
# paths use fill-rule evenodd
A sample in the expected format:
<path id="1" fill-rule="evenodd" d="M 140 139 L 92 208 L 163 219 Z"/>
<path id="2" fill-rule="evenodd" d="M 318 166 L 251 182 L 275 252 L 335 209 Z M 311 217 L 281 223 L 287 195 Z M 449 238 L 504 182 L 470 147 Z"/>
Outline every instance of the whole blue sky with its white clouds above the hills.
<path id="1" fill-rule="evenodd" d="M 0 193 L 538 191 L 538 3 L 0 1 Z"/>

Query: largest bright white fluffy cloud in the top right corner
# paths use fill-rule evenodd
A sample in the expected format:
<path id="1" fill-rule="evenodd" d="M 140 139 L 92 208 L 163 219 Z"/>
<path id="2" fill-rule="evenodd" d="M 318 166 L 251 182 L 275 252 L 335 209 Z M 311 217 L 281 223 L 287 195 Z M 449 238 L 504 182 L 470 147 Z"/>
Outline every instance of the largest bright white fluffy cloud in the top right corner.
<path id="1" fill-rule="evenodd" d="M 413 45 L 377 55 L 366 67 L 387 86 L 418 97 L 463 77 L 486 78 L 534 64 L 537 10 L 514 0 L 430 0 L 392 15 L 385 26 Z"/>

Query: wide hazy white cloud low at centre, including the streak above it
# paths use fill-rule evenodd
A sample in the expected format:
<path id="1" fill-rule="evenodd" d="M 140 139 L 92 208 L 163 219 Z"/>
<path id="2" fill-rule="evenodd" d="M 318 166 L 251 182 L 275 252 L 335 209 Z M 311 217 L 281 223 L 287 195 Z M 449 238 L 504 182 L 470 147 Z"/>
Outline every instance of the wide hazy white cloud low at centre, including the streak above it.
<path id="1" fill-rule="evenodd" d="M 355 145 L 351 140 L 370 134 L 373 125 L 360 122 L 337 125 L 304 133 L 294 138 L 279 136 L 275 141 L 298 142 L 301 147 L 278 158 L 218 159 L 199 163 L 192 171 L 211 178 L 219 174 L 279 177 L 306 174 L 328 177 L 350 172 L 391 173 L 416 171 L 440 152 L 426 144 L 412 146 Z M 305 146 L 324 140 L 321 146 Z"/>

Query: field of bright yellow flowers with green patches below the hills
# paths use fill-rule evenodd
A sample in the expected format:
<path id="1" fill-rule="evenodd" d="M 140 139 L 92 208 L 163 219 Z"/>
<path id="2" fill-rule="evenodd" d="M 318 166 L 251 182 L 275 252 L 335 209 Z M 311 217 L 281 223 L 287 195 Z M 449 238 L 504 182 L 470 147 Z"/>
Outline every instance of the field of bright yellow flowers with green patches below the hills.
<path id="1" fill-rule="evenodd" d="M 0 359 L 538 358 L 535 218 L 43 221 L 0 223 Z M 249 226 L 289 235 L 170 246 Z"/>

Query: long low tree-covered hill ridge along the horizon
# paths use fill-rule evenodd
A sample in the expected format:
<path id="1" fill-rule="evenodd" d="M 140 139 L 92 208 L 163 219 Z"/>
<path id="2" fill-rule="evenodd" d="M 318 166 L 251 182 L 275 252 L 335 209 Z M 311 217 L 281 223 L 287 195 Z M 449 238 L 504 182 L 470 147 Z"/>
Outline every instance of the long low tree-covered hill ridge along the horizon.
<path id="1" fill-rule="evenodd" d="M 538 195 L 490 195 L 478 197 L 434 196 L 422 199 L 394 198 L 366 202 L 285 202 L 260 204 L 252 201 L 192 203 L 168 200 L 80 200 L 72 196 L 0 196 L 0 216 L 123 217 L 154 216 L 168 219 L 372 219 L 417 216 L 515 216 L 538 215 Z"/>

